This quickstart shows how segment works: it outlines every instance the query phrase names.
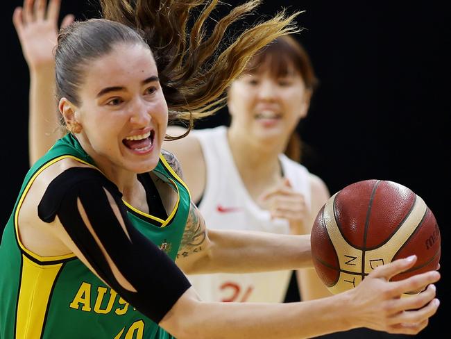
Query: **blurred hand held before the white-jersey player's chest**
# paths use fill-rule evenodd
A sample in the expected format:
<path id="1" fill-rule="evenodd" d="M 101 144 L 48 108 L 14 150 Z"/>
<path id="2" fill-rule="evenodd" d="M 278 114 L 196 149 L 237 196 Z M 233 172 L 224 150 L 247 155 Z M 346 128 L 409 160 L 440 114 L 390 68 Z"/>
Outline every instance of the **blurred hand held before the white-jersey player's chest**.
<path id="1" fill-rule="evenodd" d="M 289 221 L 292 234 L 309 233 L 305 228 L 308 215 L 305 198 L 291 187 L 288 179 L 283 179 L 279 185 L 264 192 L 259 197 L 259 204 L 269 210 L 271 217 Z"/>

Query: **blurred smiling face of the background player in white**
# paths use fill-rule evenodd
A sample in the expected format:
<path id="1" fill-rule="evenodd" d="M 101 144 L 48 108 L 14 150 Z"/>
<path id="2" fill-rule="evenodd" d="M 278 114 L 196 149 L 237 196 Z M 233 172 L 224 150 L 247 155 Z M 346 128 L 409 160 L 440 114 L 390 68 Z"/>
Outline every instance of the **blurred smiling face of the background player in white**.
<path id="1" fill-rule="evenodd" d="M 228 92 L 230 128 L 260 140 L 288 140 L 307 114 L 309 99 L 310 92 L 298 72 L 286 76 L 275 76 L 269 70 L 244 74 Z"/>

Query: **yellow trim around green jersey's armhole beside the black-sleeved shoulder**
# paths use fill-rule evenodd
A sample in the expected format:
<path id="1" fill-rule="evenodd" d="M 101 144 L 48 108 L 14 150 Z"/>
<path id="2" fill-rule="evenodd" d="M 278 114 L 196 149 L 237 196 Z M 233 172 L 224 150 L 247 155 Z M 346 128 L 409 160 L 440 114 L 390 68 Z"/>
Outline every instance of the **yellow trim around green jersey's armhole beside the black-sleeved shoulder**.
<path id="1" fill-rule="evenodd" d="M 53 165 L 54 163 L 57 163 L 59 160 L 62 160 L 64 158 L 71 158 L 74 160 L 77 160 L 80 163 L 84 163 L 85 165 L 90 165 L 92 166 L 90 163 L 87 163 L 85 160 L 81 160 L 80 158 L 76 158 L 75 156 L 59 156 L 58 158 L 54 158 L 53 160 L 49 161 L 49 163 L 44 164 L 40 169 L 38 169 L 35 174 L 33 174 L 33 176 L 31 177 L 30 181 L 28 181 L 26 188 L 24 189 L 24 192 L 22 192 L 22 195 L 19 199 L 19 202 L 17 203 L 17 208 L 15 210 L 15 215 L 14 215 L 14 227 L 15 227 L 15 231 L 16 231 L 16 239 L 17 239 L 17 243 L 19 244 L 19 247 L 22 249 L 22 251 L 26 252 L 29 256 L 36 258 L 38 261 L 42 261 L 42 262 L 46 262 L 46 261 L 62 261 L 65 259 L 69 259 L 69 258 L 74 258 L 75 254 L 71 253 L 71 254 L 65 254 L 64 256 L 39 256 L 35 253 L 33 253 L 32 251 L 28 250 L 25 248 L 24 244 L 22 244 L 22 242 L 20 241 L 19 238 L 19 210 L 24 202 L 24 199 L 26 197 L 26 195 L 28 194 L 28 190 L 30 190 L 31 185 L 33 184 L 33 182 L 35 181 L 35 179 L 37 178 L 37 176 L 39 174 L 42 173 L 42 171 L 44 171 L 44 169 L 46 169 L 47 167 L 49 167 L 50 165 Z M 97 167 L 94 167 L 97 169 Z"/>

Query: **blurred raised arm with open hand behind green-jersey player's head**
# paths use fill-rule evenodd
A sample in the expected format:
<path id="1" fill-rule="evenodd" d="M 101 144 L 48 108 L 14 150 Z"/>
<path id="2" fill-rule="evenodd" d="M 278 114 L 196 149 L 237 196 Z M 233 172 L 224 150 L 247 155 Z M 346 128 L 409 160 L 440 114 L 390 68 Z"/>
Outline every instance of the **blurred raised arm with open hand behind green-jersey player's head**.
<path id="1" fill-rule="evenodd" d="M 53 48 L 58 36 L 61 0 L 25 0 L 12 15 L 22 52 L 30 71 L 28 145 L 30 163 L 40 158 L 60 137 L 54 99 L 55 71 Z M 73 15 L 62 26 L 74 21 Z"/>

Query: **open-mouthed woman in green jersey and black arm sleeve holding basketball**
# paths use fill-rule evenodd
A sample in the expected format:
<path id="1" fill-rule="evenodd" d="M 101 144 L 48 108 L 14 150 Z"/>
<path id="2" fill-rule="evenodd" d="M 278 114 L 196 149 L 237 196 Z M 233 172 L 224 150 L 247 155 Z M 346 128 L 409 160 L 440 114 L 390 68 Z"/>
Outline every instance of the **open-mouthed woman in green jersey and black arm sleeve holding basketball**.
<path id="1" fill-rule="evenodd" d="M 359 326 L 417 333 L 438 307 L 439 273 L 389 281 L 415 257 L 377 267 L 341 295 L 292 304 L 200 301 L 171 261 L 187 273 L 311 265 L 308 235 L 207 231 L 178 161 L 160 153 L 168 106 L 171 117 L 205 108 L 228 86 L 226 74 L 232 81 L 248 56 L 291 30 L 292 17 L 276 17 L 213 60 L 215 49 L 203 49 L 194 31 L 186 55 L 178 38 L 189 5 L 201 2 L 139 2 L 135 12 L 134 1 L 103 1 L 106 17 L 134 24 L 146 42 L 103 19 L 60 33 L 56 90 L 69 133 L 28 172 L 3 233 L 1 338 L 302 338 Z M 201 64 L 215 76 L 199 73 Z"/>

